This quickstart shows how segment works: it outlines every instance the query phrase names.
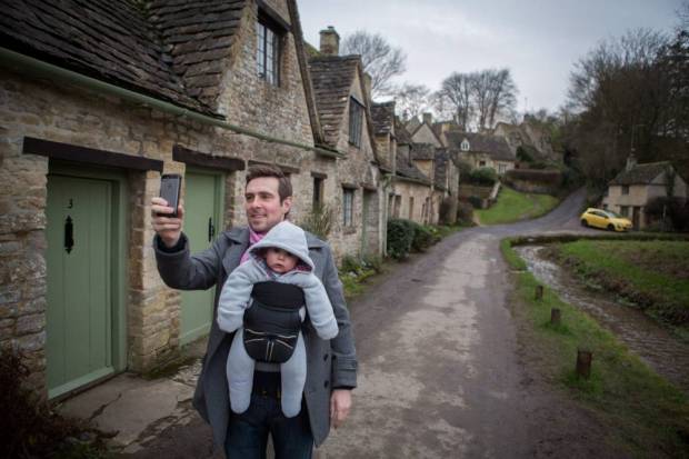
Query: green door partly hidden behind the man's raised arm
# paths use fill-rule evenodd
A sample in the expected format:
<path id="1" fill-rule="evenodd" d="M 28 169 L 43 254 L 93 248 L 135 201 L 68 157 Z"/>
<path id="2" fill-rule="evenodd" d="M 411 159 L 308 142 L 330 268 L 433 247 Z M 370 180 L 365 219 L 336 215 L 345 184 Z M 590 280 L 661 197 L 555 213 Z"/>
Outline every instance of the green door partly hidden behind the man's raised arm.
<path id="1" fill-rule="evenodd" d="M 221 174 L 188 170 L 184 182 L 184 233 L 196 253 L 210 247 L 220 231 L 223 180 Z M 214 295 L 216 288 L 182 291 L 182 345 L 209 332 Z"/>

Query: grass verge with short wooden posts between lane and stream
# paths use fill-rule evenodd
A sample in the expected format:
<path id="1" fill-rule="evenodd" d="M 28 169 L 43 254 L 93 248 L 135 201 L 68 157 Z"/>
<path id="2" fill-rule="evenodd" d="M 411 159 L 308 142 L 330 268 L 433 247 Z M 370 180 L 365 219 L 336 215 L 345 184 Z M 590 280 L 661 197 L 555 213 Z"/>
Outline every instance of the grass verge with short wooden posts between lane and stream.
<path id="1" fill-rule="evenodd" d="M 517 255 L 508 246 L 505 252 Z M 509 259 L 508 259 L 508 262 Z M 609 428 L 609 440 L 631 457 L 689 457 L 689 400 L 675 386 L 630 353 L 613 335 L 592 318 L 561 301 L 547 287 L 535 299 L 538 281 L 530 272 L 517 272 L 516 315 L 531 330 L 528 349 L 540 359 L 557 386 Z M 550 311 L 559 308 L 560 327 L 550 326 Z M 593 352 L 591 378 L 575 373 L 577 349 Z"/>

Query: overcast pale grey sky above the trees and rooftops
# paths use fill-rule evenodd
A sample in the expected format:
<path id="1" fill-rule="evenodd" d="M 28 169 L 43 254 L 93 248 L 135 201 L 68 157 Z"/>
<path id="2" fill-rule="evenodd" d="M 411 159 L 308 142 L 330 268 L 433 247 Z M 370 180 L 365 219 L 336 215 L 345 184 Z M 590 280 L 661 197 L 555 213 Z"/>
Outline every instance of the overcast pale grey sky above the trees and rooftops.
<path id="1" fill-rule="evenodd" d="M 303 33 L 381 33 L 407 53 L 398 81 L 431 90 L 453 71 L 508 67 L 518 108 L 556 110 L 573 63 L 628 29 L 671 31 L 682 0 L 298 0 Z M 526 101 L 526 106 L 525 106 Z"/>

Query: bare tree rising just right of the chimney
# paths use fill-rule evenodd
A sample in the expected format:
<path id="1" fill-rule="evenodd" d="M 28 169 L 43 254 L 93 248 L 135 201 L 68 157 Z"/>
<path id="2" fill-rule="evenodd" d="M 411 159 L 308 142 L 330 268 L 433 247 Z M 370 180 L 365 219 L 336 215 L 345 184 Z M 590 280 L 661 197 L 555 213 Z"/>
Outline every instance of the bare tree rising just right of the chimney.
<path id="1" fill-rule="evenodd" d="M 379 33 L 358 30 L 342 41 L 343 54 L 360 54 L 363 69 L 371 76 L 371 92 L 376 97 L 390 94 L 393 77 L 402 74 L 407 54 L 401 48 L 392 47 Z"/>

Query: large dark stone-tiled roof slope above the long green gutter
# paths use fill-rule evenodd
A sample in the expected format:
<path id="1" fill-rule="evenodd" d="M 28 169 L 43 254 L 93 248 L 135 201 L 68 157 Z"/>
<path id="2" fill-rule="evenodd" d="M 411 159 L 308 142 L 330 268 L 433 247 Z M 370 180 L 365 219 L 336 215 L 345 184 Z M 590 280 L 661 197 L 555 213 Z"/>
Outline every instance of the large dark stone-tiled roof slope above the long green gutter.
<path id="1" fill-rule="evenodd" d="M 3 46 L 203 113 L 247 0 L 3 1 Z"/>

